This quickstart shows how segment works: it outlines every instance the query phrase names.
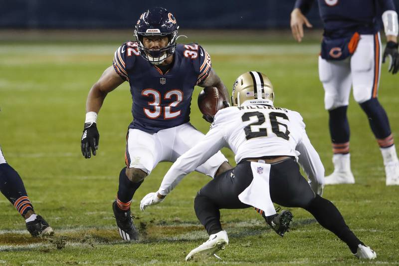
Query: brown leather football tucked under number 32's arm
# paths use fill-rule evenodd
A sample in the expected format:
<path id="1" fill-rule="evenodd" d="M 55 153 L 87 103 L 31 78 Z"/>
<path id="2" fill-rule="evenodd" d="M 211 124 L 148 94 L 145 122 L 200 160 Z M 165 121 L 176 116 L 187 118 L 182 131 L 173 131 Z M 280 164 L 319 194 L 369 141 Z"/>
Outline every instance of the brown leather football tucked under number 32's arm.
<path id="1" fill-rule="evenodd" d="M 224 100 L 226 99 L 216 87 L 204 88 L 198 96 L 198 107 L 203 114 L 203 118 L 208 122 L 212 122 L 216 112 L 224 107 Z"/>

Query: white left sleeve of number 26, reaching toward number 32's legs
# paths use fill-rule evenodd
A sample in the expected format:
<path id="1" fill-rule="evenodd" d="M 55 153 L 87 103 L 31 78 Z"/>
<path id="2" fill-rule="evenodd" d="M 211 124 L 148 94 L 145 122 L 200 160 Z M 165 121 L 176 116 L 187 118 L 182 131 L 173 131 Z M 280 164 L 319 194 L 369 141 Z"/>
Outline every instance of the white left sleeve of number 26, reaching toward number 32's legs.
<path id="1" fill-rule="evenodd" d="M 211 129 L 202 141 L 180 156 L 166 173 L 158 193 L 168 195 L 182 179 L 206 162 L 225 145 L 224 133 Z"/>

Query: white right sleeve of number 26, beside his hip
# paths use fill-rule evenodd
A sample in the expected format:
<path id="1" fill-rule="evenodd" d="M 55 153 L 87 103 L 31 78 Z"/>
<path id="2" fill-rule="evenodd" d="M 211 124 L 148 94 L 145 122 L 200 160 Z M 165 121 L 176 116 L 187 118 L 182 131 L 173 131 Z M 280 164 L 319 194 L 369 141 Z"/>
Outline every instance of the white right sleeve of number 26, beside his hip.
<path id="1" fill-rule="evenodd" d="M 298 156 L 298 163 L 302 166 L 308 179 L 315 182 L 319 186 L 324 186 L 324 166 L 320 160 L 320 156 L 316 149 L 310 143 L 309 137 L 306 134 L 305 123 L 301 115 L 297 113 L 297 121 L 299 121 L 299 128 L 302 131 L 302 138 L 296 146 L 296 150 L 300 152 Z"/>

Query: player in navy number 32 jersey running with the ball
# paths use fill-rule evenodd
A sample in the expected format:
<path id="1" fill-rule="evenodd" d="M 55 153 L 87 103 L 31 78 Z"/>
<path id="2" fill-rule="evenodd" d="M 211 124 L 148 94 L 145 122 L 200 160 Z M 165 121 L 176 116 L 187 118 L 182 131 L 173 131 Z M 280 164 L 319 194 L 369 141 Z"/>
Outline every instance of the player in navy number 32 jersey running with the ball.
<path id="1" fill-rule="evenodd" d="M 211 67 L 209 54 L 196 43 L 177 44 L 178 24 L 162 7 L 141 14 L 135 26 L 136 41 L 122 44 L 108 67 L 92 86 L 86 102 L 81 139 L 85 158 L 96 155 L 99 133 L 97 114 L 106 95 L 127 81 L 132 94 L 133 121 L 129 125 L 125 162 L 113 211 L 122 239 L 137 240 L 130 204 L 144 178 L 162 161 L 174 162 L 203 138 L 190 124 L 194 87 L 214 86 L 228 99 L 228 92 Z M 214 177 L 231 169 L 216 153 L 196 170 Z"/>

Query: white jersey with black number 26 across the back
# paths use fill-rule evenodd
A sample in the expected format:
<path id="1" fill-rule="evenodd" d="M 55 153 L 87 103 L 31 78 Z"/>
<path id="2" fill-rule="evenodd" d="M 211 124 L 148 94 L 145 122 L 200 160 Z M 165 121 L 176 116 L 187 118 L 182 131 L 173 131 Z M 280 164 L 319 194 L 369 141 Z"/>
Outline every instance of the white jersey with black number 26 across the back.
<path id="1" fill-rule="evenodd" d="M 308 150 L 301 149 L 298 144 L 311 146 L 298 112 L 268 105 L 221 109 L 205 139 L 212 139 L 212 135 L 213 142 L 217 139 L 221 146 L 234 152 L 236 163 L 267 156 L 295 157 Z"/>

